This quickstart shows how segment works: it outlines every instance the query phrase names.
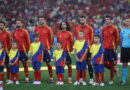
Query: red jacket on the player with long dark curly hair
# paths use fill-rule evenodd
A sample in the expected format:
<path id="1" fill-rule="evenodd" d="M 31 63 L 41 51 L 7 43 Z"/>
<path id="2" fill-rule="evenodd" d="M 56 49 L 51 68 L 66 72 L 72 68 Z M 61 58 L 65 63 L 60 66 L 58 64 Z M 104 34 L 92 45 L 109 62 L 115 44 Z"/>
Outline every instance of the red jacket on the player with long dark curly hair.
<path id="1" fill-rule="evenodd" d="M 69 31 L 60 31 L 57 34 L 57 40 L 62 42 L 62 48 L 64 51 L 71 51 L 74 44 L 74 38 Z"/>

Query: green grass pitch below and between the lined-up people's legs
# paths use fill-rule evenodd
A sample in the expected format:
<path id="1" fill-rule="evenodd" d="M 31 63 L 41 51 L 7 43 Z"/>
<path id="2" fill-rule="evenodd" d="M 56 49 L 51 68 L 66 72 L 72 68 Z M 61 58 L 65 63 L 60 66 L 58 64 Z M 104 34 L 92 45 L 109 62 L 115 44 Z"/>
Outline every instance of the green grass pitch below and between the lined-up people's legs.
<path id="1" fill-rule="evenodd" d="M 73 65 L 75 64 L 74 61 L 74 57 L 72 56 L 72 63 Z M 52 64 L 54 64 L 52 62 Z M 43 66 L 46 66 L 45 63 L 43 64 Z M 22 65 L 20 64 L 20 67 L 22 67 Z M 31 64 L 29 64 L 29 67 L 31 67 Z M 33 71 L 29 72 L 29 77 L 30 77 L 30 83 L 24 83 L 24 72 L 19 72 L 19 81 L 20 84 L 16 85 L 16 84 L 12 84 L 12 85 L 7 85 L 7 84 L 3 84 L 3 88 L 4 90 L 128 90 L 130 88 L 130 75 L 128 75 L 127 77 L 127 85 L 125 86 L 120 86 L 119 82 L 121 79 L 121 68 L 122 66 L 116 66 L 120 69 L 120 77 L 117 78 L 115 76 L 114 78 L 114 85 L 109 85 L 108 81 L 109 81 L 109 71 L 107 69 L 105 69 L 105 86 L 104 87 L 99 87 L 99 86 L 92 86 L 87 84 L 87 86 L 74 86 L 73 84 L 68 84 L 67 80 L 68 80 L 68 75 L 67 75 L 67 70 L 65 70 L 65 84 L 63 86 L 58 86 L 56 84 L 50 84 L 49 83 L 49 75 L 48 72 L 46 70 L 42 70 L 42 84 L 41 85 L 33 85 L 32 82 L 34 80 L 33 78 Z M 130 68 L 128 68 L 130 70 Z M 53 70 L 53 75 L 54 75 L 54 80 L 56 81 L 56 74 L 55 74 L 55 70 Z M 76 70 L 73 69 L 73 75 L 72 75 L 72 80 L 73 82 L 75 82 L 75 78 L 76 78 Z M 87 83 L 89 82 L 89 75 L 88 75 L 88 71 L 87 71 Z"/>

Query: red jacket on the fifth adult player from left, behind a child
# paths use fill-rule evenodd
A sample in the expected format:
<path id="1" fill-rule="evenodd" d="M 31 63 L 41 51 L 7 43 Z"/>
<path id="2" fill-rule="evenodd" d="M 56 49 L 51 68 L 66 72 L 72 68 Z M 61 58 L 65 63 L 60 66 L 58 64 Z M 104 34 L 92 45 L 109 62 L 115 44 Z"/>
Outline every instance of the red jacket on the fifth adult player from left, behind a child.
<path id="1" fill-rule="evenodd" d="M 74 34 L 76 36 L 76 39 L 79 40 L 79 36 L 78 36 L 78 32 L 79 31 L 84 31 L 84 39 L 88 42 L 88 45 L 89 47 L 92 45 L 93 43 L 93 29 L 88 26 L 88 25 L 85 25 L 85 26 L 77 26 L 74 30 Z"/>

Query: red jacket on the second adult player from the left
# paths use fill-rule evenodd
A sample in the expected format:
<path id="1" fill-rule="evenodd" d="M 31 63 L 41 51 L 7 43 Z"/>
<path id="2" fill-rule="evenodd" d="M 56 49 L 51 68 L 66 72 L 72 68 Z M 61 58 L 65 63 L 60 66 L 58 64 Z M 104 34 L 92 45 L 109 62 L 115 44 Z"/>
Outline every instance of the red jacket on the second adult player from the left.
<path id="1" fill-rule="evenodd" d="M 28 52 L 30 48 L 30 38 L 28 31 L 25 29 L 16 29 L 12 34 L 13 40 L 18 43 L 20 51 Z"/>

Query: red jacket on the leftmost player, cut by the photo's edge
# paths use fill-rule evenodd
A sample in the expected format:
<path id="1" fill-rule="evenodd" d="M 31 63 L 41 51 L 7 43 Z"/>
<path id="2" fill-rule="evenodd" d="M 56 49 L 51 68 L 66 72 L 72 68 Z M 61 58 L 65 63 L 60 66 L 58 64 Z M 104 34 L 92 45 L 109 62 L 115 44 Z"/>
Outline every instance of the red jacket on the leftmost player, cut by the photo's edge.
<path id="1" fill-rule="evenodd" d="M 0 41 L 4 43 L 4 49 L 8 53 L 11 48 L 11 35 L 7 30 L 0 32 Z"/>

